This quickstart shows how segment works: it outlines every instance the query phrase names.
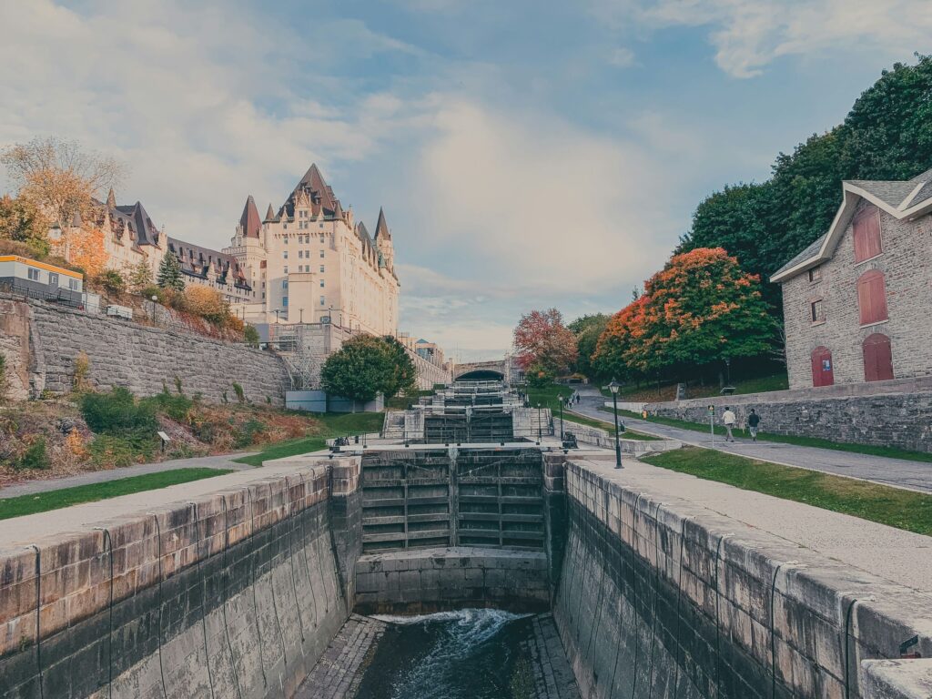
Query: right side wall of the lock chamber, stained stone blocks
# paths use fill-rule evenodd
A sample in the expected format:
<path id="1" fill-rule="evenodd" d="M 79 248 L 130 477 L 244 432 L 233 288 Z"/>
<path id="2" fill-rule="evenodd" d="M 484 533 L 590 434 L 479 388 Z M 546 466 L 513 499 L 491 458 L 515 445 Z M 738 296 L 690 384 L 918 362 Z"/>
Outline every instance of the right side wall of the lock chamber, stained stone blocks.
<path id="1" fill-rule="evenodd" d="M 861 662 L 932 651 L 927 598 L 592 465 L 566 470 L 554 617 L 583 696 L 907 697 Z"/>

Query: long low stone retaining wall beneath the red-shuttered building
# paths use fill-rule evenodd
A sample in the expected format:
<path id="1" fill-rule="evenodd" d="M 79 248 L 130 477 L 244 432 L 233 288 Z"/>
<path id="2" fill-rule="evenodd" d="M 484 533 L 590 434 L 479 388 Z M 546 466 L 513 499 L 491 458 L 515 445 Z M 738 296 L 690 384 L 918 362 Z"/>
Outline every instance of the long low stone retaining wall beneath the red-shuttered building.
<path id="1" fill-rule="evenodd" d="M 761 416 L 762 432 L 932 451 L 932 381 L 883 383 L 888 386 L 855 384 L 652 403 L 647 411 L 707 425 L 708 405 L 716 406 L 719 421 L 730 405 L 741 425 L 754 408 Z M 884 388 L 889 392 L 883 392 Z"/>

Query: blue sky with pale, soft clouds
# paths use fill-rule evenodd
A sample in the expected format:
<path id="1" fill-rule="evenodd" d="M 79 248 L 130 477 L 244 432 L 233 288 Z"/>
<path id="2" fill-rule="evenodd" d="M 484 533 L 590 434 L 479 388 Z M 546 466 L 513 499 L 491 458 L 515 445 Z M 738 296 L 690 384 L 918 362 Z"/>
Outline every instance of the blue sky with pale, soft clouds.
<path id="1" fill-rule="evenodd" d="M 317 162 L 370 230 L 385 208 L 400 329 L 471 361 L 532 308 L 622 308 L 699 201 L 928 52 L 932 3 L 29 0 L 0 26 L 0 145 L 119 158 L 119 203 L 218 249 Z"/>

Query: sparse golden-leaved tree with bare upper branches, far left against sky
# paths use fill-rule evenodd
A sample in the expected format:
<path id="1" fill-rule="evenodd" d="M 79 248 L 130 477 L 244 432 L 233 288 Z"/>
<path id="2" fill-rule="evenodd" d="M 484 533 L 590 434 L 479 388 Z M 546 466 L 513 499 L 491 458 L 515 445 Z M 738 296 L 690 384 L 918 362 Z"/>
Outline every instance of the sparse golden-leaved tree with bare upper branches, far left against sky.
<path id="1" fill-rule="evenodd" d="M 54 136 L 34 138 L 0 152 L 10 179 L 20 196 L 57 224 L 66 234 L 75 214 L 89 218 L 92 198 L 116 186 L 123 176 L 122 164 L 84 150 L 74 141 Z"/>

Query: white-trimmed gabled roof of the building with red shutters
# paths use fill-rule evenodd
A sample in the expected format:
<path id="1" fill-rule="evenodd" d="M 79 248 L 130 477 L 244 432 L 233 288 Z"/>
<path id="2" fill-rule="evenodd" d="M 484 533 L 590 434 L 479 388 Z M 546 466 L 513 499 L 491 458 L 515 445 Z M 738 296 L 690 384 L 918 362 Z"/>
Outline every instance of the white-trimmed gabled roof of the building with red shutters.
<path id="1" fill-rule="evenodd" d="M 770 281 L 787 281 L 830 260 L 861 199 L 870 201 L 898 220 L 912 220 L 932 212 L 932 170 L 922 172 L 909 182 L 845 180 L 842 192 L 842 205 L 835 213 L 828 232 L 777 269 Z"/>

